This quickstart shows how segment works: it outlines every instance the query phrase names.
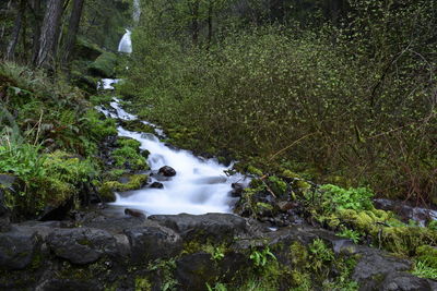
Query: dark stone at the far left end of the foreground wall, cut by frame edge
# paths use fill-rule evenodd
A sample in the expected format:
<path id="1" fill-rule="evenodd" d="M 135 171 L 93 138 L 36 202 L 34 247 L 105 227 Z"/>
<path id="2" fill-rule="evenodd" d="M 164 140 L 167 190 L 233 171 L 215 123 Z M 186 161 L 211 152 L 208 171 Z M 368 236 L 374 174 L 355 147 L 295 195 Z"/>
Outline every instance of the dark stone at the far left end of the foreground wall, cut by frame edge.
<path id="1" fill-rule="evenodd" d="M 35 231 L 0 233 L 0 268 L 24 269 L 38 251 L 39 239 Z"/>

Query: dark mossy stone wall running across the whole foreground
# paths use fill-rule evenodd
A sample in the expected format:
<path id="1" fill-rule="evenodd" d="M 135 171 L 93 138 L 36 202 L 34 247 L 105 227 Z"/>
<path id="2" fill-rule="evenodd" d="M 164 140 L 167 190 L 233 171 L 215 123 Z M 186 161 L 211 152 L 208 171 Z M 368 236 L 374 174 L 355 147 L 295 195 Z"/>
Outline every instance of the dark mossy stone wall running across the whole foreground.
<path id="1" fill-rule="evenodd" d="M 409 260 L 324 230 L 271 231 L 231 214 L 92 211 L 71 221 L 13 225 L 0 233 L 0 267 L 2 290 L 208 290 L 217 282 L 238 290 L 265 279 L 270 290 L 305 287 L 307 279 L 307 290 L 335 290 L 330 286 L 344 275 L 359 290 L 437 290 L 409 274 Z"/>

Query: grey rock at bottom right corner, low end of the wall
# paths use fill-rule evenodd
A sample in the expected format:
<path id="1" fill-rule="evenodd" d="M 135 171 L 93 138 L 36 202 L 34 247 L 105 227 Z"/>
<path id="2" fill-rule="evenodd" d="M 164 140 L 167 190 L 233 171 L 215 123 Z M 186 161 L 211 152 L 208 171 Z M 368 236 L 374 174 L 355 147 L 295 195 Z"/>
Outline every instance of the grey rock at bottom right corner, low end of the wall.
<path id="1" fill-rule="evenodd" d="M 390 272 L 378 290 L 382 291 L 430 291 L 428 280 L 415 277 L 408 272 Z"/>

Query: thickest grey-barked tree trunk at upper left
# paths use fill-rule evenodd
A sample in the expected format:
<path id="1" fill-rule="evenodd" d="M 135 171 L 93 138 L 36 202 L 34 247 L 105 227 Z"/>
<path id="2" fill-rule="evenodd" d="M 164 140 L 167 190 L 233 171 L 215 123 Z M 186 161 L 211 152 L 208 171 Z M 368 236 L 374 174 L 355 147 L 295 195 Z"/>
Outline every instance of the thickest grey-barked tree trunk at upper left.
<path id="1" fill-rule="evenodd" d="M 35 63 L 37 68 L 54 69 L 62 11 L 63 0 L 47 1 Z"/>

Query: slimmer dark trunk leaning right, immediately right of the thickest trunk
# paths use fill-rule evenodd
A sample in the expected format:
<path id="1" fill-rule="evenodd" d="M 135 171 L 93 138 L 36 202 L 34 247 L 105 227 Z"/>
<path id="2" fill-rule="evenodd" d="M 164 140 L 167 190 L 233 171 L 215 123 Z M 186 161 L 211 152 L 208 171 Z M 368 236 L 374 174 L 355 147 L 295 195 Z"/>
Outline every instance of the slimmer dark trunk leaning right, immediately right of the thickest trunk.
<path id="1" fill-rule="evenodd" d="M 70 61 L 74 44 L 75 37 L 79 31 L 79 24 L 81 22 L 82 9 L 83 9 L 84 0 L 74 0 L 73 9 L 71 11 L 70 21 L 69 21 L 69 29 L 67 33 L 67 39 L 63 46 L 63 56 L 62 56 L 62 65 L 66 66 Z"/>

